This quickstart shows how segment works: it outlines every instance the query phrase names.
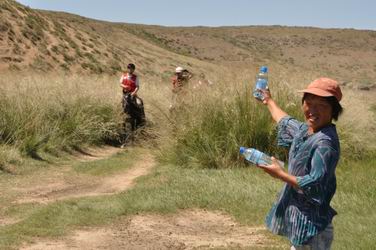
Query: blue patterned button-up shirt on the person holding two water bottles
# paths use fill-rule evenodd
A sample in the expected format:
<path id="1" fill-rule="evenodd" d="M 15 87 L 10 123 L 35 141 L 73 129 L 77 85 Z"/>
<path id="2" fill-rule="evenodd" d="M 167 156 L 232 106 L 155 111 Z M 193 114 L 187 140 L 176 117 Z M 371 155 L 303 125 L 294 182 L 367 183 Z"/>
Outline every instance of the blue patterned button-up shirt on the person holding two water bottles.
<path id="1" fill-rule="evenodd" d="M 278 145 L 290 147 L 288 172 L 297 177 L 298 188 L 285 184 L 266 224 L 293 245 L 303 245 L 337 214 L 330 207 L 340 154 L 337 131 L 329 125 L 309 134 L 306 123 L 286 116 L 278 123 L 277 139 Z"/>

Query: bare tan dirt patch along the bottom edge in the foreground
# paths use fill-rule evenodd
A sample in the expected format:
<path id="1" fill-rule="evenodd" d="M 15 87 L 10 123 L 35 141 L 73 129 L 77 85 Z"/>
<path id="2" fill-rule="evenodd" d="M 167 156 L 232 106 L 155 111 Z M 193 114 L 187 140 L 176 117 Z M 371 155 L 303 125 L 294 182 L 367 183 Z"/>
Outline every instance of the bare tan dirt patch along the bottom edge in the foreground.
<path id="1" fill-rule="evenodd" d="M 23 250 L 65 249 L 255 249 L 278 248 L 263 227 L 246 227 L 220 212 L 185 210 L 161 216 L 137 215 L 101 227 L 78 230 L 60 240 L 38 241 Z"/>

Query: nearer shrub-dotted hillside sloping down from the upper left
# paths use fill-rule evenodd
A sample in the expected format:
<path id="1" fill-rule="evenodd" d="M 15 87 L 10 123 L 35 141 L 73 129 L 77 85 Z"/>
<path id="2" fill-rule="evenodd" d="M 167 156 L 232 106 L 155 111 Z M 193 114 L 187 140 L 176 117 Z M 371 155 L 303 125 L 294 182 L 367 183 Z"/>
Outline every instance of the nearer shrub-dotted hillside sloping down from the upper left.
<path id="1" fill-rule="evenodd" d="M 123 25 L 0 1 L 0 71 L 119 74 L 129 62 L 139 72 L 170 74 L 177 65 L 201 67 L 128 33 Z"/>

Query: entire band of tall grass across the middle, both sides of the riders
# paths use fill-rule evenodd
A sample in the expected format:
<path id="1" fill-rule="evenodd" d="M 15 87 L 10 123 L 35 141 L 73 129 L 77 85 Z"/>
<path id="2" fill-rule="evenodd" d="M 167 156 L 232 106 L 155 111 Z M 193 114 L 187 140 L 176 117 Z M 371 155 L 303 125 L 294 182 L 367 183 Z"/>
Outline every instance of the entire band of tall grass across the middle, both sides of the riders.
<path id="1" fill-rule="evenodd" d="M 231 167 L 239 164 L 239 146 L 247 146 L 284 159 L 286 151 L 276 147 L 276 128 L 267 108 L 251 96 L 256 69 L 233 74 L 218 67 L 205 73 L 213 85 L 198 86 L 196 74 L 186 104 L 174 112 L 169 111 L 169 77 L 141 76 L 139 96 L 148 120 L 143 138 L 161 147 L 161 158 L 178 165 Z M 279 105 L 301 119 L 301 97 L 295 89 L 314 78 L 272 68 L 270 88 Z M 3 75 L 0 146 L 7 157 L 1 157 L 0 165 L 18 162 L 20 155 L 38 158 L 43 152 L 119 141 L 120 100 L 118 77 Z M 351 124 L 341 119 L 343 151 L 362 157 L 364 147 L 354 142 Z"/>

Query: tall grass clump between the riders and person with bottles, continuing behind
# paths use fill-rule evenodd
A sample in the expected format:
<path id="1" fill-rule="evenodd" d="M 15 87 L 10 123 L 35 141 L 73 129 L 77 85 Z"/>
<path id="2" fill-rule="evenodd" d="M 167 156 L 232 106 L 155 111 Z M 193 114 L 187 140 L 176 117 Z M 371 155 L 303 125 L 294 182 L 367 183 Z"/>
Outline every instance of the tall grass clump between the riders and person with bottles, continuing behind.
<path id="1" fill-rule="evenodd" d="M 223 72 L 211 87 L 191 88 L 186 103 L 171 116 L 174 136 L 162 150 L 162 158 L 184 166 L 234 167 L 242 164 L 239 147 L 246 146 L 286 160 L 287 150 L 277 146 L 276 124 L 268 109 L 252 97 L 255 72 Z M 270 89 L 283 110 L 303 121 L 302 96 L 296 90 L 316 77 L 276 69 L 270 77 Z M 343 160 L 372 155 L 367 147 L 356 143 L 349 123 L 338 122 L 337 129 Z"/>

